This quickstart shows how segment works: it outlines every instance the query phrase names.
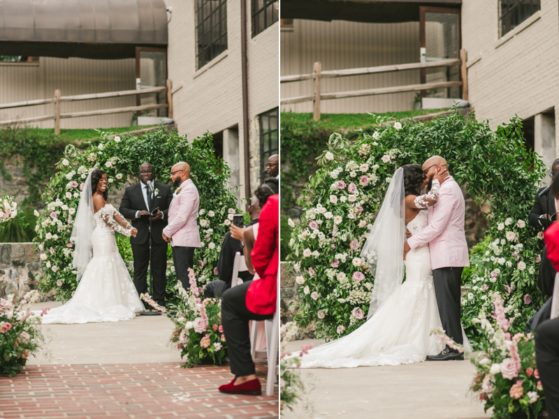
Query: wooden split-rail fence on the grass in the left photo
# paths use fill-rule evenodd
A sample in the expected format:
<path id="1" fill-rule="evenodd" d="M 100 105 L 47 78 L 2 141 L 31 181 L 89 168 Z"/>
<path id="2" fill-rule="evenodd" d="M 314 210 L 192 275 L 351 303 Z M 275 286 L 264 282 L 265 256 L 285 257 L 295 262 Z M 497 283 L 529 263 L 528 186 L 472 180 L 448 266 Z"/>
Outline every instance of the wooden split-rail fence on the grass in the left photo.
<path id="1" fill-rule="evenodd" d="M 105 93 L 78 94 L 74 96 L 61 96 L 60 89 L 57 89 L 55 90 L 54 98 L 36 99 L 34 101 L 23 101 L 23 102 L 0 104 L 0 110 L 2 110 L 2 109 L 24 108 L 27 106 L 45 105 L 48 103 L 54 103 L 54 114 L 43 115 L 41 117 L 31 117 L 31 118 L 24 118 L 24 119 L 12 119 L 9 121 L 0 121 L 0 126 L 10 125 L 10 124 L 23 124 L 27 122 L 48 121 L 50 119 L 54 119 L 55 134 L 58 135 L 60 133 L 60 119 L 64 119 L 64 118 L 92 117 L 95 115 L 109 115 L 109 114 L 122 113 L 122 112 L 140 112 L 143 110 L 152 110 L 152 109 L 161 109 L 161 108 L 168 108 L 168 117 L 173 118 L 173 100 L 171 96 L 171 86 L 172 84 L 170 80 L 167 80 L 165 87 L 152 87 L 150 89 L 135 89 L 135 90 L 123 90 L 123 91 L 108 91 Z M 118 96 L 132 96 L 132 95 L 140 95 L 140 94 L 161 93 L 164 91 L 167 93 L 167 103 L 161 103 L 157 105 L 127 106 L 125 108 L 86 110 L 83 112 L 60 113 L 61 102 L 88 101 L 91 99 L 114 98 Z"/>

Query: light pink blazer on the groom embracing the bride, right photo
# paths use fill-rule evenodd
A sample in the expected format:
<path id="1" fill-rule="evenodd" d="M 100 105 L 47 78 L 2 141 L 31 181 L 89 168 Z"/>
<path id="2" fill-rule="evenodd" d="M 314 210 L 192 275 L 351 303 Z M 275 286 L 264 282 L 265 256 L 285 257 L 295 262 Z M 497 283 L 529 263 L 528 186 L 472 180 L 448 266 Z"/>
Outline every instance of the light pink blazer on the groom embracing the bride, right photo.
<path id="1" fill-rule="evenodd" d="M 431 268 L 470 266 L 464 232 L 465 203 L 460 186 L 449 177 L 439 200 L 427 213 L 428 226 L 407 240 L 412 250 L 429 244 Z"/>

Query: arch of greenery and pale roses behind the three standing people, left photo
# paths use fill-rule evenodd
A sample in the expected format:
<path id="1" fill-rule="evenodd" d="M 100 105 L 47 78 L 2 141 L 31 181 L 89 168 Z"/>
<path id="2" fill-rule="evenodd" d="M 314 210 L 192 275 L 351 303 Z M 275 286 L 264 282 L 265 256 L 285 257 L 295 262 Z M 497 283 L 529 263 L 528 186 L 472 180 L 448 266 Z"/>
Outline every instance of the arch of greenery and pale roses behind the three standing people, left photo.
<path id="1" fill-rule="evenodd" d="M 67 300 L 77 286 L 71 267 L 72 213 L 78 208 L 78 186 L 84 182 L 89 169 L 103 168 L 107 172 L 110 189 L 119 189 L 129 176 L 138 175 L 138 167 L 145 161 L 159 170 L 156 175 L 160 182 L 170 179 L 173 164 L 189 162 L 191 179 L 200 195 L 198 223 L 202 247 L 194 254 L 196 273 L 203 283 L 213 279 L 222 238 L 231 224 L 228 216 L 235 212 L 236 200 L 227 185 L 230 169 L 215 155 L 212 135 L 205 133 L 189 142 L 186 137 L 180 137 L 176 132 L 168 133 L 163 127 L 141 137 L 109 139 L 107 135 L 101 133 L 101 140 L 89 144 L 83 151 L 68 145 L 64 150 L 64 159 L 57 164 L 59 172 L 52 177 L 43 194 L 47 210 L 39 219 L 36 227 L 38 235 L 34 240 L 38 250 L 44 254 L 41 289 L 49 291 L 55 288 L 57 299 Z M 70 247 L 68 243 L 71 243 Z M 120 249 L 125 250 L 122 246 Z M 127 252 L 123 254 L 125 260 L 130 258 Z"/>

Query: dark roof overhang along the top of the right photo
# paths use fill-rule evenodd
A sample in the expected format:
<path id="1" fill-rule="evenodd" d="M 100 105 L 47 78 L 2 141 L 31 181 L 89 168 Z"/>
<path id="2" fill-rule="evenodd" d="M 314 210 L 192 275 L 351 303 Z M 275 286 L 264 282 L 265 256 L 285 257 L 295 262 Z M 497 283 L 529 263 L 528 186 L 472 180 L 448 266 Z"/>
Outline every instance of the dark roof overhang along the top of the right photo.
<path id="1" fill-rule="evenodd" d="M 282 0 L 282 19 L 419 22 L 419 6 L 460 8 L 462 0 Z"/>

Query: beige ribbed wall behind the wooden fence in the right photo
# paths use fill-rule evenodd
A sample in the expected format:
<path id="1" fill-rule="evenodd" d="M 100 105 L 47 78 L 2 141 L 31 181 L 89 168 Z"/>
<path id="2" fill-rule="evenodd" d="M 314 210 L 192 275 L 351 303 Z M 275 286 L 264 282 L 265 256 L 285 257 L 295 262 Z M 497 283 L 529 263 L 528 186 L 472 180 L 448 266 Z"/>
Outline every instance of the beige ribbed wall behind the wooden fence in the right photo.
<path id="1" fill-rule="evenodd" d="M 419 22 L 372 24 L 346 21 L 293 20 L 293 30 L 281 32 L 281 75 L 419 62 Z M 321 91 L 351 91 L 418 84 L 418 70 L 322 79 Z M 282 83 L 281 97 L 312 94 L 312 80 Z M 413 92 L 321 101 L 324 113 L 364 113 L 412 110 Z M 312 112 L 312 102 L 282 106 L 282 111 Z"/>

